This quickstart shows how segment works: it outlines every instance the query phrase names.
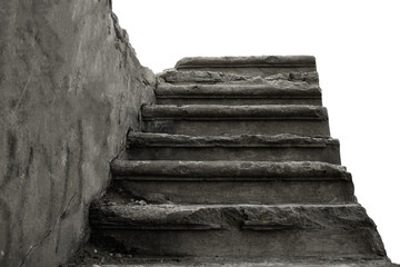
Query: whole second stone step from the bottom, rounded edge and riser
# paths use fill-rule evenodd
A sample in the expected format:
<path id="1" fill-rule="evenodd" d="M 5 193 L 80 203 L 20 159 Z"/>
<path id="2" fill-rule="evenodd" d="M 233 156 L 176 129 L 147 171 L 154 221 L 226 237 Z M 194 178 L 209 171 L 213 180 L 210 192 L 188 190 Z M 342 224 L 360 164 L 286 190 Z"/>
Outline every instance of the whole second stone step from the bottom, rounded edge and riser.
<path id="1" fill-rule="evenodd" d="M 314 161 L 113 160 L 113 182 L 148 202 L 354 202 L 346 168 Z"/>

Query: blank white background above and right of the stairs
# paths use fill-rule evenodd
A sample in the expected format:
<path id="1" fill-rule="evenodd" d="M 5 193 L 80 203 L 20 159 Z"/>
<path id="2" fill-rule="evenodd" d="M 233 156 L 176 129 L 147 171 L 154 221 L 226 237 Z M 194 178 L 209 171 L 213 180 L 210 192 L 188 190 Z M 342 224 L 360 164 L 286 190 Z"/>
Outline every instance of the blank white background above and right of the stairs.
<path id="1" fill-rule="evenodd" d="M 331 136 L 400 263 L 400 1 L 113 0 L 143 66 L 191 56 L 317 57 Z"/>

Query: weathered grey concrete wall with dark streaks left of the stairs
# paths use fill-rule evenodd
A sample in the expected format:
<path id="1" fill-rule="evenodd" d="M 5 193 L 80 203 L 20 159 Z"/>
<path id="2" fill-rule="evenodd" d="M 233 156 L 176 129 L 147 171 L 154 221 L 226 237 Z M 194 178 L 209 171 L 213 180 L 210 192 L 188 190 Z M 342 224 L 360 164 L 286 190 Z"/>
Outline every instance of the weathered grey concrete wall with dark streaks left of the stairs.
<path id="1" fill-rule="evenodd" d="M 109 0 L 0 1 L 0 266 L 58 266 L 153 99 Z"/>

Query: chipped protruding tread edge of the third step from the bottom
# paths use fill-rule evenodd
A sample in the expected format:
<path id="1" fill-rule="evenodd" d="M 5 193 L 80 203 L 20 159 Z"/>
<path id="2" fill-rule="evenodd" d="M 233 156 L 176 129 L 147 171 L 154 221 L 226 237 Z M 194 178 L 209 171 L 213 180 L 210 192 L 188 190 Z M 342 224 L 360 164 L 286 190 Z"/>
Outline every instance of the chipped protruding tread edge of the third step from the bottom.
<path id="1" fill-rule="evenodd" d="M 129 131 L 127 147 L 338 147 L 333 138 L 307 137 L 290 134 L 186 136 Z"/>

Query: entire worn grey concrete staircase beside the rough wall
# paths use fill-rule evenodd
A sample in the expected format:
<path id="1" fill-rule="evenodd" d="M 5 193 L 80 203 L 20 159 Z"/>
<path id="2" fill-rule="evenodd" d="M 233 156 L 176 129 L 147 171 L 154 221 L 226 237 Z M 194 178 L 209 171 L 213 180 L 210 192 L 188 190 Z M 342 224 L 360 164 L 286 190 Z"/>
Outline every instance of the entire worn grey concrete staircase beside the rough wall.
<path id="1" fill-rule="evenodd" d="M 92 243 L 132 266 L 391 266 L 313 57 L 186 58 L 156 93 L 91 206 Z"/>

